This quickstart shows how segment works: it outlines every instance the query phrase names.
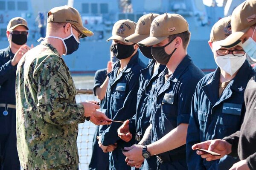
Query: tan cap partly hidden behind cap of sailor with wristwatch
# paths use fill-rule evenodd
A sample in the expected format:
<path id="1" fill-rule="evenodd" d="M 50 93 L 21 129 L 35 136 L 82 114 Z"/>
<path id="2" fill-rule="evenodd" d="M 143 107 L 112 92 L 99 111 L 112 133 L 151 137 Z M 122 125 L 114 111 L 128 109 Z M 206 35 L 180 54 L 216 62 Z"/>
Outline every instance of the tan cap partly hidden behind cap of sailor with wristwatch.
<path id="1" fill-rule="evenodd" d="M 126 42 L 138 43 L 141 40 L 149 37 L 150 34 L 150 26 L 155 17 L 159 16 L 159 14 L 145 14 L 137 22 L 137 26 L 135 28 L 135 33 L 125 38 Z"/>

